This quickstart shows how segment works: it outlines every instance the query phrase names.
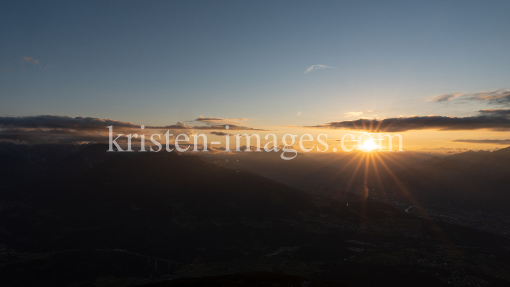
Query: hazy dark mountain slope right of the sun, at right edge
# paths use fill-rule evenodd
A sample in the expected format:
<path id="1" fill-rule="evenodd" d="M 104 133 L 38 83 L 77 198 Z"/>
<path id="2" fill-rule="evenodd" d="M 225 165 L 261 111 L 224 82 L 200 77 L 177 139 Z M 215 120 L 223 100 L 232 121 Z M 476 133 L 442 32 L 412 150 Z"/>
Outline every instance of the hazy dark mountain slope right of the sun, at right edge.
<path id="1" fill-rule="evenodd" d="M 510 147 L 493 152 L 470 150 L 443 160 L 395 173 L 388 185 L 395 194 L 418 202 L 502 211 L 510 207 Z"/>

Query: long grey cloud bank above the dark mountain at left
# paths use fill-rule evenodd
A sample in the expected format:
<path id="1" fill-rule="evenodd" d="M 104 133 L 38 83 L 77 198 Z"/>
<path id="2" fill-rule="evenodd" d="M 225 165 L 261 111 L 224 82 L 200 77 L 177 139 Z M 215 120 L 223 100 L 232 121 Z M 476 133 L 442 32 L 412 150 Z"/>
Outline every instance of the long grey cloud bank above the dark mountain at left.
<path id="1" fill-rule="evenodd" d="M 108 128 L 112 125 L 115 134 L 164 134 L 170 130 L 173 134 L 196 134 L 196 130 L 225 130 L 225 125 L 190 126 L 182 122 L 165 126 L 145 126 L 112 119 L 66 117 L 66 116 L 30 116 L 0 117 L 0 141 L 9 140 L 19 143 L 85 143 L 108 142 Z M 156 131 L 149 132 L 147 129 Z M 265 131 L 264 129 L 230 125 L 231 130 Z M 145 132 L 146 131 L 146 132 Z M 125 137 L 119 138 L 120 141 Z"/>

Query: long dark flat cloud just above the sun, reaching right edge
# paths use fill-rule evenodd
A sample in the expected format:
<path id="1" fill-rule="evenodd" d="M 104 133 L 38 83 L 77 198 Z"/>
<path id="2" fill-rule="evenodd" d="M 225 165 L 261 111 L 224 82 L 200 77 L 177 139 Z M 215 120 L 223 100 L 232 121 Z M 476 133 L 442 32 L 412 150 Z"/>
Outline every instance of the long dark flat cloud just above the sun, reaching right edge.
<path id="1" fill-rule="evenodd" d="M 491 129 L 492 131 L 510 131 L 510 117 L 484 114 L 473 117 L 411 116 L 387 119 L 358 119 L 353 121 L 328 122 L 323 125 L 304 126 L 305 128 L 333 128 L 353 131 L 399 133 L 420 129 L 439 131 L 462 131 L 472 129 Z"/>

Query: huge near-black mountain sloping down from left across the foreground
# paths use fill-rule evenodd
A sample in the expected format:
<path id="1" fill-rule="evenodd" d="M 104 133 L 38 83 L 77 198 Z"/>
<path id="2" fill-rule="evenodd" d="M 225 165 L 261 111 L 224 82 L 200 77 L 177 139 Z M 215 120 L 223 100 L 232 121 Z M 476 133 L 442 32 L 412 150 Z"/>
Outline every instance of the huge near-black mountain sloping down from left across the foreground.
<path id="1" fill-rule="evenodd" d="M 34 147 L 14 148 L 26 154 Z M 508 238 L 416 217 L 366 196 L 339 189 L 319 196 L 176 152 L 87 145 L 58 154 L 35 166 L 26 165 L 26 156 L 0 158 L 4 170 L 34 167 L 0 190 L 0 286 L 127 286 L 169 278 L 182 280 L 157 284 L 237 284 L 253 280 L 242 275 L 248 272 L 277 273 L 257 275 L 274 279 L 269 285 L 285 285 L 284 279 L 373 285 L 377 279 L 367 273 L 392 285 L 510 278 L 505 270 L 482 268 L 508 262 Z M 441 172 L 466 168 L 440 165 Z"/>

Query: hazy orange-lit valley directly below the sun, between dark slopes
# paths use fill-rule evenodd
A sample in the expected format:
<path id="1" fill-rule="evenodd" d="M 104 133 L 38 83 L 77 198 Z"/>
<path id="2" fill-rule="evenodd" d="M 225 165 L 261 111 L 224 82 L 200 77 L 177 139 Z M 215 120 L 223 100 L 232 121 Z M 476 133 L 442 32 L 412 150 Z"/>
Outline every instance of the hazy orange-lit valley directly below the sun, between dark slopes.
<path id="1" fill-rule="evenodd" d="M 238 171 L 258 174 L 309 193 L 355 190 L 370 184 L 379 188 L 380 179 L 405 167 L 423 162 L 428 154 L 362 151 L 298 153 L 284 161 L 279 152 L 233 152 L 201 156 L 202 160 Z"/>

